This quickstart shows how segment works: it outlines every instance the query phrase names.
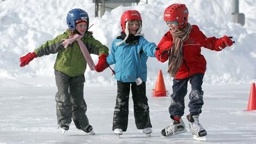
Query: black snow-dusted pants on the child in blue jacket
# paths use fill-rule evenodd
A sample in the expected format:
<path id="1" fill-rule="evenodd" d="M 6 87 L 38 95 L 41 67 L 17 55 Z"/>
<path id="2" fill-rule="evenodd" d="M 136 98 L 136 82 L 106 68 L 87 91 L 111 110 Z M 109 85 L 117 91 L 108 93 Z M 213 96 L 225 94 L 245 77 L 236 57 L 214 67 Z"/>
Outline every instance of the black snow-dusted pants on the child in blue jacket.
<path id="1" fill-rule="evenodd" d="M 113 130 L 123 129 L 126 132 L 129 114 L 129 94 L 132 91 L 134 117 L 137 129 L 151 128 L 149 105 L 146 96 L 146 83 L 123 83 L 117 81 L 117 99 L 114 108 Z"/>

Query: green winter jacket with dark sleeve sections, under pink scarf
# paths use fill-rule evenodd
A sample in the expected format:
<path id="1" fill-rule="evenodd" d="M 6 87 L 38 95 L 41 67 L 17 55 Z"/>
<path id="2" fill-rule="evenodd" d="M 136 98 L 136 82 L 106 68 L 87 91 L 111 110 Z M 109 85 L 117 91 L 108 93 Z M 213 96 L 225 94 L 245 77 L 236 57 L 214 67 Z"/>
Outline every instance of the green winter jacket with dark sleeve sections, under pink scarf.
<path id="1" fill-rule="evenodd" d="M 68 39 L 69 35 L 69 30 L 66 30 L 64 34 L 58 35 L 53 40 L 46 41 L 44 45 L 36 48 L 34 52 L 38 57 L 58 53 L 54 69 L 70 77 L 80 76 L 86 71 L 87 62 L 83 57 L 77 41 L 74 41 L 67 48 L 61 45 L 63 39 Z M 86 45 L 90 54 L 108 54 L 108 48 L 102 45 L 100 41 L 94 39 L 92 32 L 86 32 L 81 40 Z"/>

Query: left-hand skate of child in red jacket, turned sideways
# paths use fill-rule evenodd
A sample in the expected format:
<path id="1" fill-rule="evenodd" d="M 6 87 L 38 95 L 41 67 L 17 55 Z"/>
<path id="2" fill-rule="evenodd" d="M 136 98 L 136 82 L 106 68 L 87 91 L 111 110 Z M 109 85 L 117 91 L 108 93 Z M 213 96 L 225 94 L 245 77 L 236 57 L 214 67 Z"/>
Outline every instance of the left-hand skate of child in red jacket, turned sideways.
<path id="1" fill-rule="evenodd" d="M 162 136 L 171 136 L 180 133 L 187 132 L 184 122 L 182 121 L 181 117 L 170 117 L 170 125 L 162 129 L 161 135 Z"/>

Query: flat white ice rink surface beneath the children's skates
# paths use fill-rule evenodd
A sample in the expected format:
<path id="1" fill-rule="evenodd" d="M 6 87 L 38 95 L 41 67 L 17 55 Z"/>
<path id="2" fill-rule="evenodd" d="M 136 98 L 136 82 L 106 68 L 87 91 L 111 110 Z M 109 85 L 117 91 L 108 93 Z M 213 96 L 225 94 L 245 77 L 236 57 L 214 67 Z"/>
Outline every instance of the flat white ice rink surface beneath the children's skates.
<path id="1" fill-rule="evenodd" d="M 170 87 L 167 87 L 170 90 Z M 247 108 L 250 85 L 204 86 L 204 106 L 200 122 L 208 131 L 208 141 L 203 143 L 256 143 L 256 111 Z M 151 137 L 136 129 L 132 99 L 129 105 L 127 132 L 117 139 L 112 131 L 116 88 L 85 87 L 87 116 L 96 135 L 88 135 L 75 128 L 61 135 L 57 129 L 54 95 L 55 87 L 0 88 L 0 143 L 202 143 L 192 139 L 188 122 L 187 132 L 173 137 L 161 137 L 160 131 L 169 121 L 170 97 L 152 97 L 148 87 Z M 185 100 L 188 114 L 188 97 Z"/>

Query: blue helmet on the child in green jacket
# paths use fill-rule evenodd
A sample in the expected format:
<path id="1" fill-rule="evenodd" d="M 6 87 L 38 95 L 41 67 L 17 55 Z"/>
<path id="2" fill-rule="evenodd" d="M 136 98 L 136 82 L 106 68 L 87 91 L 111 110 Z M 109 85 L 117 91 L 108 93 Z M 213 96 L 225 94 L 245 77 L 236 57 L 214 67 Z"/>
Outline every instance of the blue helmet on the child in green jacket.
<path id="1" fill-rule="evenodd" d="M 76 29 L 76 20 L 86 19 L 87 20 L 87 29 L 89 26 L 89 16 L 86 11 L 82 9 L 72 9 L 69 11 L 68 15 L 66 15 L 66 24 L 70 30 Z"/>

